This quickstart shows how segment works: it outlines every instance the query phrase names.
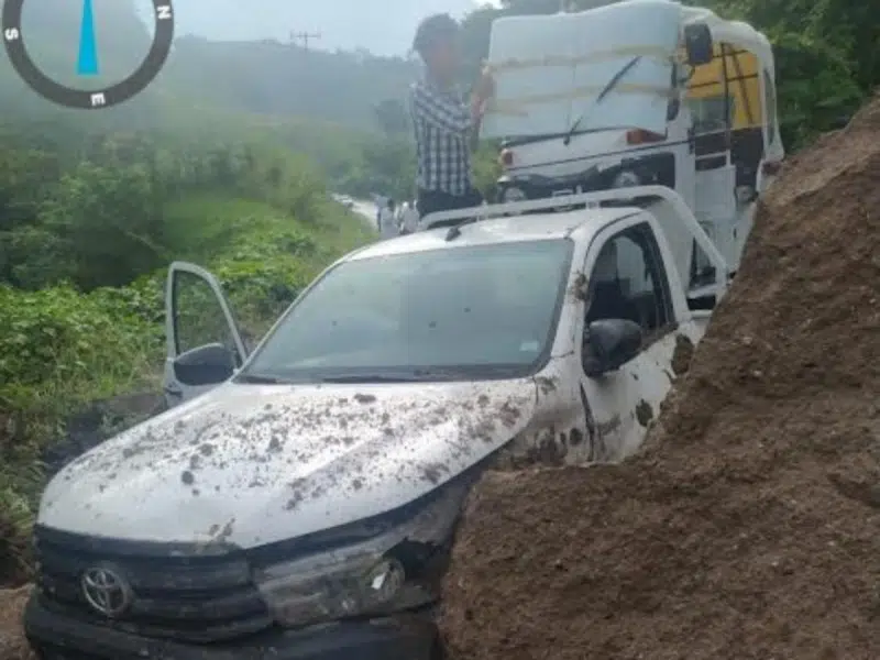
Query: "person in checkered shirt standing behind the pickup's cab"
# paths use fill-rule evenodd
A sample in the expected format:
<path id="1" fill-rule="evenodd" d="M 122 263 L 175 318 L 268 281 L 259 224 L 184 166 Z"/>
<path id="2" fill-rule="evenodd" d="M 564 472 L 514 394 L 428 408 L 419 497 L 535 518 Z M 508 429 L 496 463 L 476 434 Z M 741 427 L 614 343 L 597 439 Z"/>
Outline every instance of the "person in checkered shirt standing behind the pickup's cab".
<path id="1" fill-rule="evenodd" d="M 436 14 L 421 22 L 413 42 L 426 69 L 409 91 L 418 157 L 416 207 L 422 217 L 483 201 L 471 178 L 471 150 L 495 85 L 484 70 L 470 106 L 462 101 L 455 87 L 458 37 L 459 24 L 449 14 Z"/>

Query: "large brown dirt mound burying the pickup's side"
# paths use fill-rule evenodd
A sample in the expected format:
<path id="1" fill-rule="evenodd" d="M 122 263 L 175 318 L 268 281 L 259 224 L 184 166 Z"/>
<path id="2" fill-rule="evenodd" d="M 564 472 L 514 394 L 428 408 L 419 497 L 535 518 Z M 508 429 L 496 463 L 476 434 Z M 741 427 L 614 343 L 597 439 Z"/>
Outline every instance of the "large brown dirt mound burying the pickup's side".
<path id="1" fill-rule="evenodd" d="M 880 100 L 785 167 L 645 452 L 477 486 L 451 654 L 880 658 L 878 392 Z"/>

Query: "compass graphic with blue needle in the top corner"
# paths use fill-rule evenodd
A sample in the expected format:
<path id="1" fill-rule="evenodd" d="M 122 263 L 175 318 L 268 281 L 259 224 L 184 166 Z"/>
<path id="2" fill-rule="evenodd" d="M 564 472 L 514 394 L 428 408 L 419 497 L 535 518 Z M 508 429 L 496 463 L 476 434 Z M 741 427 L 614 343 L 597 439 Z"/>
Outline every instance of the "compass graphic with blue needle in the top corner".
<path id="1" fill-rule="evenodd" d="M 41 0 L 31 0 L 37 2 Z M 97 76 L 100 73 L 98 43 L 95 36 L 92 0 L 82 1 L 82 20 L 79 30 L 79 52 L 76 73 Z M 2 13 L 3 43 L 15 72 L 31 89 L 53 103 L 68 108 L 99 110 L 118 106 L 143 91 L 162 70 L 174 41 L 174 10 L 172 0 L 152 0 L 155 32 L 153 43 L 141 66 L 121 82 L 106 89 L 84 90 L 67 87 L 46 76 L 28 54 L 21 28 L 22 7 L 25 0 L 6 0 Z"/>

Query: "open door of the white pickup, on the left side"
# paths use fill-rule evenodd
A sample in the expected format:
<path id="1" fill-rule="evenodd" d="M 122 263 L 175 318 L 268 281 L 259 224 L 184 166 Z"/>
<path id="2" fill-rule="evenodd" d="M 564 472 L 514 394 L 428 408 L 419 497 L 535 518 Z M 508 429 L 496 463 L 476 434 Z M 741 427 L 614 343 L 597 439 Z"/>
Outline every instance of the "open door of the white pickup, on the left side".
<path id="1" fill-rule="evenodd" d="M 165 337 L 163 388 L 168 407 L 228 381 L 248 356 L 220 283 L 186 262 L 168 268 Z"/>

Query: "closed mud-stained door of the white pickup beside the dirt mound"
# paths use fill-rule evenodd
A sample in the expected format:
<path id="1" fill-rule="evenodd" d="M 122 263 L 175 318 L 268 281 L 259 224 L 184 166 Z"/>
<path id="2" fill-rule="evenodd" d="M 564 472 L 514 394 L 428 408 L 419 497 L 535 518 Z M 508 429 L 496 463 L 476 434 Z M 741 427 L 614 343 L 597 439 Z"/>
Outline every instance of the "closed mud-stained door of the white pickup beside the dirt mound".
<path id="1" fill-rule="evenodd" d="M 660 244 L 645 215 L 600 232 L 584 266 L 581 397 L 588 459 L 616 462 L 641 444 L 670 389 L 675 311 Z M 614 354 L 596 350 L 602 344 L 615 346 Z"/>

